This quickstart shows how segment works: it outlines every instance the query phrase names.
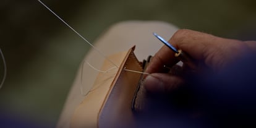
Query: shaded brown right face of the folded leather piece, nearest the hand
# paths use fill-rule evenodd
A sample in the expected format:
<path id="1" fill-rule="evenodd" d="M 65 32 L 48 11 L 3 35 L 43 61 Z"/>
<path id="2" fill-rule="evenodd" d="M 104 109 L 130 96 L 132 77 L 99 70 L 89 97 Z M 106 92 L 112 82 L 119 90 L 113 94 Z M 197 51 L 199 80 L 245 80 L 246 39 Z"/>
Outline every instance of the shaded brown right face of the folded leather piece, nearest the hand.
<path id="1" fill-rule="evenodd" d="M 131 52 L 122 69 L 137 70 L 142 72 L 142 66 Z M 134 127 L 135 117 L 132 112 L 132 100 L 137 88 L 140 75 L 122 70 L 114 82 L 108 100 L 101 110 L 99 127 Z"/>

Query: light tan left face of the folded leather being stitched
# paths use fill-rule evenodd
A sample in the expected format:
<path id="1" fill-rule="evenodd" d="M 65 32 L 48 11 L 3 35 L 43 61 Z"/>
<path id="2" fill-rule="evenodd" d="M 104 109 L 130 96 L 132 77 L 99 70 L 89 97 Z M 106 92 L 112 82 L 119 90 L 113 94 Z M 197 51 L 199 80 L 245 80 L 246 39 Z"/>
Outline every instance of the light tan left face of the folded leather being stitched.
<path id="1" fill-rule="evenodd" d="M 127 51 L 114 54 L 113 56 L 109 56 L 109 59 L 116 62 L 117 66 L 121 66 L 127 54 Z M 105 60 L 101 70 L 108 70 L 111 67 L 113 67 L 113 65 Z M 111 88 L 113 80 L 116 77 L 117 70 L 113 70 L 113 72 L 107 74 L 99 72 L 90 92 L 83 98 L 80 105 L 75 107 L 75 111 L 72 114 L 73 116 L 70 119 L 70 127 L 98 126 L 98 114 L 104 104 L 105 98 L 108 96 L 109 88 Z"/>

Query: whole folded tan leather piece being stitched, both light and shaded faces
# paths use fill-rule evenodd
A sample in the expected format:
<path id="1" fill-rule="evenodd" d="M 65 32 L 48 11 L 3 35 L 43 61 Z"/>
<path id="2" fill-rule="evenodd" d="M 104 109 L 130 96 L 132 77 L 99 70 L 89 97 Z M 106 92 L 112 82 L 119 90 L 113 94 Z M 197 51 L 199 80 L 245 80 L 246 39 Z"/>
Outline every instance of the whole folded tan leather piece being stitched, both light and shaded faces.
<path id="1" fill-rule="evenodd" d="M 110 56 L 118 70 L 98 74 L 92 90 L 75 110 L 71 127 L 132 127 L 134 115 L 132 98 L 141 74 L 127 72 L 124 68 L 142 71 L 134 55 L 134 48 Z M 101 70 L 113 67 L 105 61 Z"/>

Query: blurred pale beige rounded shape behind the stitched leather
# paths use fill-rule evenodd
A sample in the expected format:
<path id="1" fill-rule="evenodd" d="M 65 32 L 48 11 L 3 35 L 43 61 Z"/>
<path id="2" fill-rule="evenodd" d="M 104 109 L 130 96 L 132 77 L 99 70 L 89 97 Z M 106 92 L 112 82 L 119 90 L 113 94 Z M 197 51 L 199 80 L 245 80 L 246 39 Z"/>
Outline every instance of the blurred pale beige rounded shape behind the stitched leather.
<path id="1" fill-rule="evenodd" d="M 143 59 L 146 59 L 148 55 L 154 55 L 156 51 L 163 46 L 163 44 L 152 35 L 152 32 L 156 32 L 163 36 L 163 38 L 168 39 L 174 32 L 176 32 L 176 30 L 177 27 L 174 27 L 169 23 L 158 21 L 121 22 L 109 27 L 103 35 L 97 38 L 93 45 L 106 55 L 116 54 L 122 51 L 127 52 L 127 49 L 136 45 L 135 55 L 142 61 Z M 100 69 L 104 59 L 102 56 L 99 56 L 98 53 L 93 51 L 95 50 L 90 49 L 85 56 L 85 59 L 88 60 L 92 66 Z M 80 93 L 81 87 L 83 92 L 87 93 L 96 81 L 97 74 L 98 72 L 93 70 L 90 66 L 83 64 L 83 62 L 81 63 L 74 83 L 70 86 L 69 95 L 67 95 L 66 102 L 56 127 L 70 127 L 70 121 L 75 109 L 77 109 L 85 98 L 85 96 Z"/>

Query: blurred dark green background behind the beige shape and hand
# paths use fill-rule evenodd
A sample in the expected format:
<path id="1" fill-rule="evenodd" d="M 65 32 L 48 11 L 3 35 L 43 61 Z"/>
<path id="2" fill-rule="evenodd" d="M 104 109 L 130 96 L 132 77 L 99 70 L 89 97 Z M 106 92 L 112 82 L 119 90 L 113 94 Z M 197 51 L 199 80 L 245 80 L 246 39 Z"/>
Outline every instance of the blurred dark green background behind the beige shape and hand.
<path id="1" fill-rule="evenodd" d="M 253 0 L 43 2 L 91 42 L 124 20 L 162 20 L 179 28 L 256 40 Z M 36 0 L 1 0 L 0 9 L 0 48 L 8 69 L 0 114 L 14 122 L 54 127 L 88 45 Z"/>

